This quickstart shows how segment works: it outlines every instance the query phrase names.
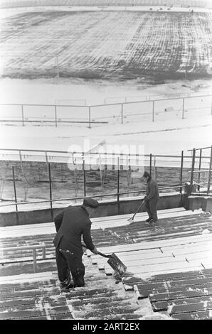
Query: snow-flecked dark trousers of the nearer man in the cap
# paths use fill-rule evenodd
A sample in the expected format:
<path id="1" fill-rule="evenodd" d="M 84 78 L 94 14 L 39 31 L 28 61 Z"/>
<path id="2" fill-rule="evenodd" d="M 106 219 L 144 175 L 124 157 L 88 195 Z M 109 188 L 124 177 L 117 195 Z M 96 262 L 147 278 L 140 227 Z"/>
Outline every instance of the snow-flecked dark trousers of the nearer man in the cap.
<path id="1" fill-rule="evenodd" d="M 85 266 L 81 256 L 76 256 L 73 252 L 56 248 L 56 263 L 58 268 L 58 278 L 60 282 L 68 279 L 70 274 L 73 278 L 73 284 L 76 286 L 84 286 Z"/>

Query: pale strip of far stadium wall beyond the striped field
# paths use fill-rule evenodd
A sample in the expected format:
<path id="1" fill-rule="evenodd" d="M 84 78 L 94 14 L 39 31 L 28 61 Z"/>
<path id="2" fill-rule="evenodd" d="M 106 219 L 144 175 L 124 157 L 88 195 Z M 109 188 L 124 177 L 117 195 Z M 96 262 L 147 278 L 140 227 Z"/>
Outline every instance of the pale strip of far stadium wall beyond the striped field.
<path id="1" fill-rule="evenodd" d="M 0 0 L 1 9 L 29 6 L 183 6 L 212 8 L 211 0 Z"/>

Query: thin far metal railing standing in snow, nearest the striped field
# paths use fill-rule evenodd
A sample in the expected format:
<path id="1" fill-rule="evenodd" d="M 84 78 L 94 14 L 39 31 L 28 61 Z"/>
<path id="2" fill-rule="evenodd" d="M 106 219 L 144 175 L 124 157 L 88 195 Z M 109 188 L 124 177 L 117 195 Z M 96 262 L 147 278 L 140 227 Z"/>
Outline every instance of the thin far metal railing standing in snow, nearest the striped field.
<path id="1" fill-rule="evenodd" d="M 22 126 L 28 123 L 53 124 L 54 126 L 87 124 L 91 128 L 92 124 L 111 122 L 124 124 L 127 119 L 127 122 L 138 122 L 139 118 L 154 122 L 157 117 L 167 119 L 168 115 L 184 119 L 185 114 L 188 115 L 189 112 L 192 117 L 195 112 L 200 112 L 201 115 L 206 112 L 211 115 L 212 95 L 92 105 L 0 104 L 0 108 L 0 122 L 2 123 L 18 123 Z M 2 111 L 5 116 L 2 116 Z"/>

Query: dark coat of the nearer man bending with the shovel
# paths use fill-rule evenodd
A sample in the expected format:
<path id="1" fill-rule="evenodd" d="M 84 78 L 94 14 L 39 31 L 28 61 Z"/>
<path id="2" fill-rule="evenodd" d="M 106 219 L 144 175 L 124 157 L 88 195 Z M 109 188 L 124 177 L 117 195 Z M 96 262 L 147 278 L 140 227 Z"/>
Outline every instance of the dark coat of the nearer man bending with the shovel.
<path id="1" fill-rule="evenodd" d="M 53 243 L 55 247 L 69 250 L 76 256 L 83 255 L 81 236 L 85 245 L 91 250 L 94 249 L 90 235 L 91 221 L 83 205 L 80 208 L 69 206 L 54 219 L 57 234 Z"/>

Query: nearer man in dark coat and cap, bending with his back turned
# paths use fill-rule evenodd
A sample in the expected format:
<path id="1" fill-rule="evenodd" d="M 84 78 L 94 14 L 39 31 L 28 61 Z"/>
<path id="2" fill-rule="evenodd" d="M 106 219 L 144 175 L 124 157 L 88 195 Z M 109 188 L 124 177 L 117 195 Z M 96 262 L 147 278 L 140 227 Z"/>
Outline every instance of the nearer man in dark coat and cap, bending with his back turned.
<path id="1" fill-rule="evenodd" d="M 88 249 L 97 254 L 90 235 L 90 215 L 97 206 L 97 200 L 85 198 L 80 208 L 70 205 L 54 219 L 57 234 L 53 243 L 55 244 L 58 278 L 61 286 L 66 289 L 85 285 L 81 236 Z M 73 283 L 70 281 L 70 273 Z"/>

